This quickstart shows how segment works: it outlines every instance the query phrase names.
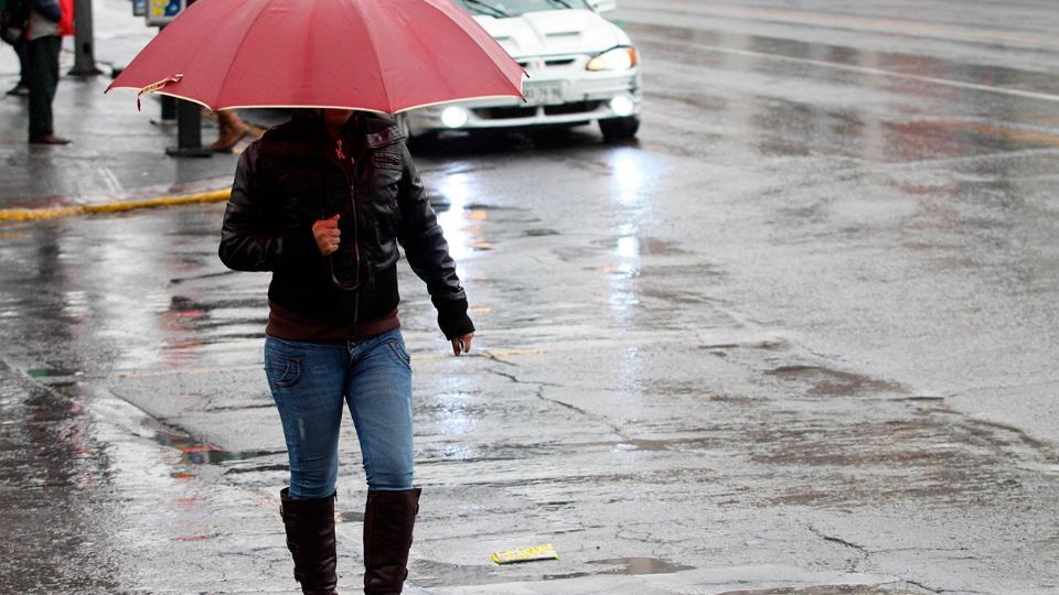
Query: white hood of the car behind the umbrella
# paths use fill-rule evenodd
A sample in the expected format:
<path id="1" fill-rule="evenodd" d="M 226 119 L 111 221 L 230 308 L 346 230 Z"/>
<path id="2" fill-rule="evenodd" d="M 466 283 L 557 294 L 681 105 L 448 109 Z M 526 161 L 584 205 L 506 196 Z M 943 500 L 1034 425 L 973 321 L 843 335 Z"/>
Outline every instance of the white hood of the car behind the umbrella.
<path id="1" fill-rule="evenodd" d="M 557 54 L 596 54 L 629 37 L 590 10 L 548 10 L 521 17 L 474 19 L 515 58 Z"/>

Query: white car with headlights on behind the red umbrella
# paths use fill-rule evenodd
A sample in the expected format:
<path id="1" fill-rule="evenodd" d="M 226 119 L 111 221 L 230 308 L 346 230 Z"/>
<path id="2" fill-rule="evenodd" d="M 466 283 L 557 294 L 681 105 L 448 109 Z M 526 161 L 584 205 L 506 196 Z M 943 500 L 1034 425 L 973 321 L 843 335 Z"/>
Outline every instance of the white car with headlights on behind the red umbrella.
<path id="1" fill-rule="evenodd" d="M 398 116 L 409 138 L 442 131 L 571 127 L 592 121 L 608 139 L 640 128 L 637 48 L 600 17 L 617 0 L 452 0 L 530 74 L 526 101 L 475 99 Z"/>

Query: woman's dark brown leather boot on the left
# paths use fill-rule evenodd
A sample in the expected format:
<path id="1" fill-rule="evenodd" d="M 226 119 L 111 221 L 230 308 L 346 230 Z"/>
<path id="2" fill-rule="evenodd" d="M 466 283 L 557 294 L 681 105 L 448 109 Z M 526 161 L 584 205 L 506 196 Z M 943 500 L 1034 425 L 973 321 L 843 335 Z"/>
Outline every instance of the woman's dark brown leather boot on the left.
<path id="1" fill-rule="evenodd" d="M 295 559 L 295 580 L 304 595 L 338 595 L 334 553 L 334 498 L 290 498 L 279 493 L 279 512 L 287 530 L 287 549 Z"/>

